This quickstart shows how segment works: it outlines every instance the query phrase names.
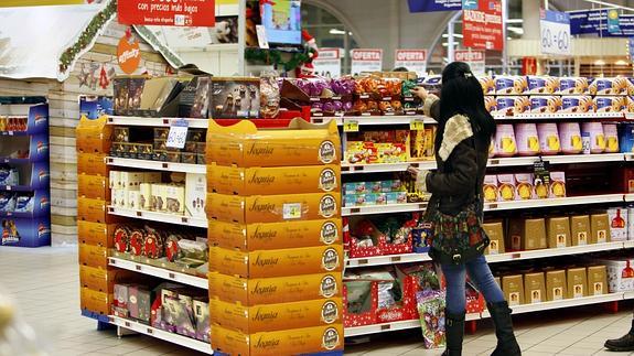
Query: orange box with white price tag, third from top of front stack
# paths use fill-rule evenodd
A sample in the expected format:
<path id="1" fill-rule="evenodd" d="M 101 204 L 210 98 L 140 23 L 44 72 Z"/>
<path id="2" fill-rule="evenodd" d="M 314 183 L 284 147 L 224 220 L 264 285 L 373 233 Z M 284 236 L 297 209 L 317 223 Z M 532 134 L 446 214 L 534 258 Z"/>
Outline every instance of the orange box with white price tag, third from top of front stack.
<path id="1" fill-rule="evenodd" d="M 240 224 L 318 220 L 340 216 L 341 193 L 238 196 L 207 194 L 207 217 Z"/>

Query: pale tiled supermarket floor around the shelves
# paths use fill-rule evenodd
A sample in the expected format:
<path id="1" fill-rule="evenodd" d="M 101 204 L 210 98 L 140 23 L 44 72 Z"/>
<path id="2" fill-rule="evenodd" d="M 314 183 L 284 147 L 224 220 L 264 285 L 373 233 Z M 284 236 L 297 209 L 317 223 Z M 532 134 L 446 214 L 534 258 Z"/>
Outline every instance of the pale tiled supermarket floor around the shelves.
<path id="1" fill-rule="evenodd" d="M 76 256 L 74 248 L 0 248 L 0 292 L 12 296 L 50 355 L 198 355 L 147 336 L 118 338 L 115 331 L 98 332 L 95 321 L 79 315 Z M 601 306 L 588 306 L 518 316 L 523 355 L 634 355 L 602 348 L 605 338 L 630 328 L 631 309 L 632 304 L 624 304 L 622 312 L 610 314 Z M 490 355 L 495 346 L 490 323 L 481 322 L 479 327 L 475 335 L 466 336 L 463 355 Z M 1 344 L 0 338 L 0 356 L 4 356 Z M 367 356 L 441 354 L 423 349 L 417 331 L 378 335 L 346 350 L 346 355 Z"/>

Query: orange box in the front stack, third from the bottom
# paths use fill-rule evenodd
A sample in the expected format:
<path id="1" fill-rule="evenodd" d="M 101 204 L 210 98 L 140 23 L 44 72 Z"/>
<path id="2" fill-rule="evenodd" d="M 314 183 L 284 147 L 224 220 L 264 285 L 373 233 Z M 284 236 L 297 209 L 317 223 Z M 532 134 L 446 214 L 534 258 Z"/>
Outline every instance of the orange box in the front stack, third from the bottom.
<path id="1" fill-rule="evenodd" d="M 255 279 L 211 272 L 208 279 L 209 295 L 246 306 L 342 295 L 339 272 Z"/>

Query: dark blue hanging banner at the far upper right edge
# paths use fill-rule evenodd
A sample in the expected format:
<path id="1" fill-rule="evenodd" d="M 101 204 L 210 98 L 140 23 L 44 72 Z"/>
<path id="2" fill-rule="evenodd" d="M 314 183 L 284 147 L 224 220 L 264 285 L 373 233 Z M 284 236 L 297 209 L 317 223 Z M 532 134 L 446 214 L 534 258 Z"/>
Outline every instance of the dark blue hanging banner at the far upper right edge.
<path id="1" fill-rule="evenodd" d="M 631 37 L 634 36 L 634 15 L 619 14 L 617 25 L 614 26 L 614 19 L 611 21 L 612 32 L 609 26 L 609 15 L 606 10 L 580 10 L 569 11 L 570 34 L 597 34 L 609 37 Z"/>

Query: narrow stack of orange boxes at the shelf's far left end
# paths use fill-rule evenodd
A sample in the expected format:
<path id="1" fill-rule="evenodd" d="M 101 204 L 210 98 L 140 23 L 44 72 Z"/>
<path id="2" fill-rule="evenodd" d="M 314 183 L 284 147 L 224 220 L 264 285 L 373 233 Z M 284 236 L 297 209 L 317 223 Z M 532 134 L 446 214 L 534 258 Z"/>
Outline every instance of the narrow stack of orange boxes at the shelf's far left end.
<path id="1" fill-rule="evenodd" d="M 93 315 L 110 314 L 115 281 L 131 273 L 108 267 L 108 237 L 115 227 L 107 213 L 110 133 L 105 117 L 82 117 L 76 129 L 80 306 Z"/>

